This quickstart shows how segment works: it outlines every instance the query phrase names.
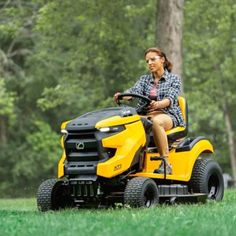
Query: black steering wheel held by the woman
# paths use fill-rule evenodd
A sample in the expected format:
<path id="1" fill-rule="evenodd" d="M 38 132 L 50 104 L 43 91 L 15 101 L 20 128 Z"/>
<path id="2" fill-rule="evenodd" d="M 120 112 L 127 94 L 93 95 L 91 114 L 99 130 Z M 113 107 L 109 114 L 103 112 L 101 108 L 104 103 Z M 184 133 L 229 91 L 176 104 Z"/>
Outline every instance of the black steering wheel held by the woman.
<path id="1" fill-rule="evenodd" d="M 140 107 L 136 108 L 136 111 L 138 114 L 144 114 L 147 111 L 147 106 L 150 104 L 151 99 L 149 99 L 148 97 L 139 95 L 139 94 L 135 94 L 135 93 L 121 93 L 119 94 L 118 98 L 117 98 L 117 103 L 118 105 L 120 105 L 120 100 L 123 100 L 124 97 L 129 97 L 128 100 L 132 100 L 132 98 L 139 98 L 140 100 L 142 100 L 142 102 L 144 102 L 143 105 L 141 105 Z"/>

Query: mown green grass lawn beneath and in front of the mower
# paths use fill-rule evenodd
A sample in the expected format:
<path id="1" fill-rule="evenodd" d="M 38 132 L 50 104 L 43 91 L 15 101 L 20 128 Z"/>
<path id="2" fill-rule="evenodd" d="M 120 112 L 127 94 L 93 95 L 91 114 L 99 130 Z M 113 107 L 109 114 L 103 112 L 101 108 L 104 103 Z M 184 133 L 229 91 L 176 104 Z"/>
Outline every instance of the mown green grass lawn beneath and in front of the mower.
<path id="1" fill-rule="evenodd" d="M 235 235 L 236 190 L 222 202 L 162 205 L 153 209 L 78 210 L 41 213 L 35 199 L 0 200 L 0 235 Z"/>

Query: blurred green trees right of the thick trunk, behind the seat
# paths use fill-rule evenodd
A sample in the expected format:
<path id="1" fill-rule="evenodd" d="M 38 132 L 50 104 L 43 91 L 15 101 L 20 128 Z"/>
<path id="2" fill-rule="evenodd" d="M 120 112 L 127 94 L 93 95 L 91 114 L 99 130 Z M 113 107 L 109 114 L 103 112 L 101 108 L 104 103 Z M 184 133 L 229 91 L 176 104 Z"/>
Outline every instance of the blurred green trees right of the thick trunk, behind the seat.
<path id="1" fill-rule="evenodd" d="M 234 0 L 186 1 L 184 36 L 187 49 L 184 74 L 189 81 L 186 83 L 187 94 L 195 104 L 194 109 L 190 108 L 193 121 L 198 124 L 198 132 L 212 137 L 216 155 L 221 156 L 219 160 L 222 163 L 230 160 L 234 179 L 235 10 Z"/>

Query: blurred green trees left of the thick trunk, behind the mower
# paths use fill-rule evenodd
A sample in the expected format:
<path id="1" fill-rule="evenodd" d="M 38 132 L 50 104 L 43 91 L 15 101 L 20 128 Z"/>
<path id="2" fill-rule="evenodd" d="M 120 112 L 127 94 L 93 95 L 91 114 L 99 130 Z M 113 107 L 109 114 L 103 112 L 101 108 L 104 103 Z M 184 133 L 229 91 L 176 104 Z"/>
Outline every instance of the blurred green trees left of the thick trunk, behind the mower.
<path id="1" fill-rule="evenodd" d="M 114 106 L 114 92 L 143 73 L 143 52 L 154 42 L 154 1 L 0 3 L 1 50 L 15 68 L 5 73 L 4 97 L 14 92 L 16 115 L 6 145 L 0 143 L 2 195 L 13 187 L 22 194 L 25 183 L 34 191 L 54 175 L 61 122 Z"/>

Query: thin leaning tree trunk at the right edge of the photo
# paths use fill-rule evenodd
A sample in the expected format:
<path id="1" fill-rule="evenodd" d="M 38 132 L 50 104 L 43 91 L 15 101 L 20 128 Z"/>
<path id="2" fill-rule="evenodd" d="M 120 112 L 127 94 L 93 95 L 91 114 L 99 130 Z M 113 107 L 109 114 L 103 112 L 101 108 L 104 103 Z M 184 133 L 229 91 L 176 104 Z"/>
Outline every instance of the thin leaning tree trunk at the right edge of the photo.
<path id="1" fill-rule="evenodd" d="M 234 132 L 230 119 L 230 114 L 228 108 L 224 107 L 224 118 L 225 118 L 225 126 L 228 135 L 228 145 L 229 145 L 229 153 L 230 153 L 230 163 L 232 169 L 232 175 L 234 180 L 234 186 L 236 186 L 236 156 L 235 156 L 235 148 L 234 148 Z"/>

